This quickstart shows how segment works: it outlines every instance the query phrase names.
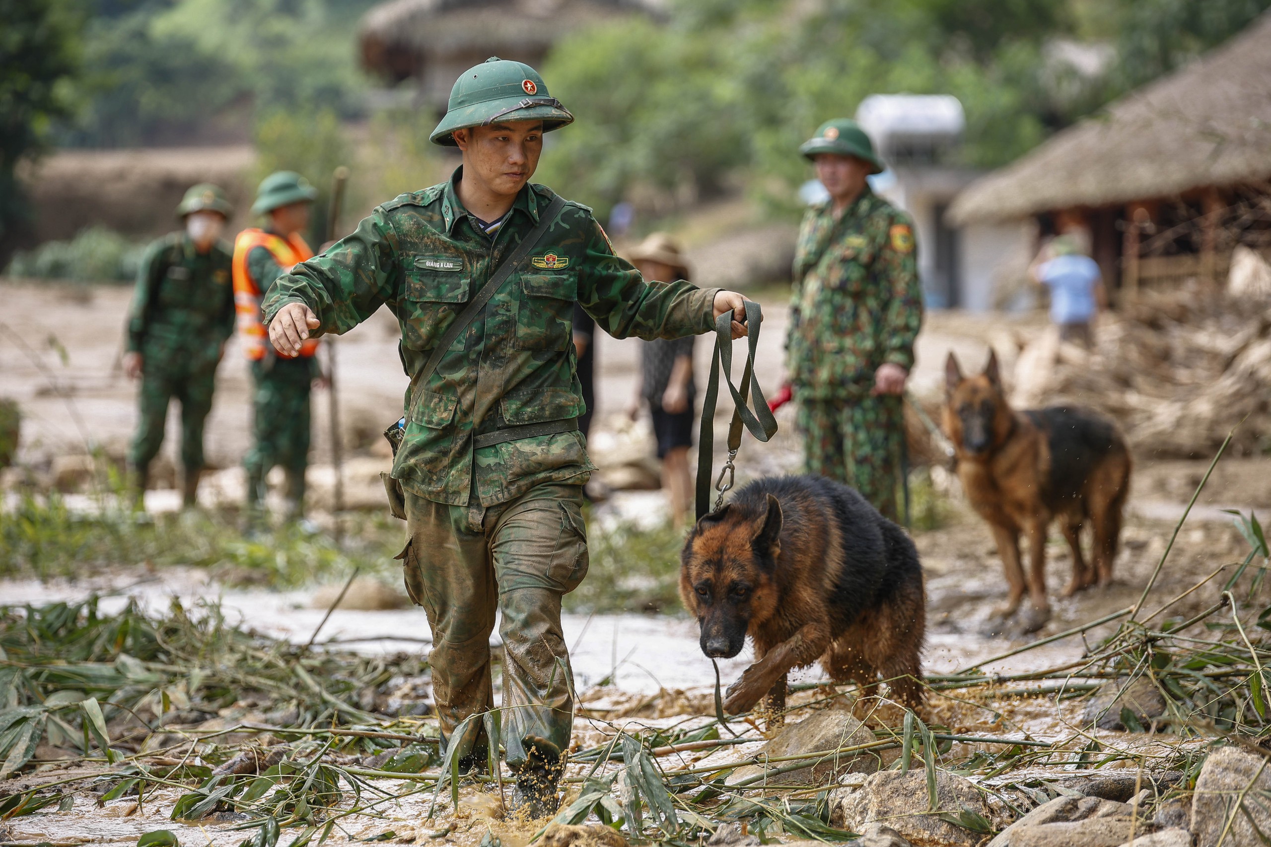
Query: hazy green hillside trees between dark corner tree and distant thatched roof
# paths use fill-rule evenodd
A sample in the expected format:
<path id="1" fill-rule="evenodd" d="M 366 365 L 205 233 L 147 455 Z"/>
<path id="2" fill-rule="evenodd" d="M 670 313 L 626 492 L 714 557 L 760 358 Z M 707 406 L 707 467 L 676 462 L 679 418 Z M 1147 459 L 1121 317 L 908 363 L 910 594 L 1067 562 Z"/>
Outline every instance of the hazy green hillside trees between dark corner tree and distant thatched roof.
<path id="1" fill-rule="evenodd" d="M 360 108 L 353 32 L 374 0 L 83 0 L 83 146 L 155 143 L 253 114 Z"/>

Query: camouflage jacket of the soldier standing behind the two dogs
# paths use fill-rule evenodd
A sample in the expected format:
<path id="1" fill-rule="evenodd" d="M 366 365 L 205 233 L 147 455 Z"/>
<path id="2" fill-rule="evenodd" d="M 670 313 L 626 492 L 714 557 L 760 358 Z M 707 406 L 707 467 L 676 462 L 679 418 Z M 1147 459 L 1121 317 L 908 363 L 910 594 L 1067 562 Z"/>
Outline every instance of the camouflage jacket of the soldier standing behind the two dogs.
<path id="1" fill-rule="evenodd" d="M 885 362 L 911 368 L 921 323 L 909 216 L 869 188 L 838 220 L 831 201 L 808 208 L 785 339 L 794 396 L 859 396 Z"/>

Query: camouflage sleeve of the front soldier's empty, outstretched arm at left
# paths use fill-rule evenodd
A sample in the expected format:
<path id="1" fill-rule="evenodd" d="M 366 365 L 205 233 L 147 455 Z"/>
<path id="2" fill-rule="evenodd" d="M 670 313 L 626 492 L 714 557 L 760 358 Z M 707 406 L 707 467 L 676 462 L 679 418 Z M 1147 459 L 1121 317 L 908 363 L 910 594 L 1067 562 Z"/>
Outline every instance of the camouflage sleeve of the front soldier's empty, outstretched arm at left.
<path id="1" fill-rule="evenodd" d="M 285 305 L 301 302 L 322 321 L 315 335 L 347 333 L 395 300 L 397 248 L 389 213 L 376 208 L 351 235 L 278 277 L 264 297 L 264 323 Z"/>

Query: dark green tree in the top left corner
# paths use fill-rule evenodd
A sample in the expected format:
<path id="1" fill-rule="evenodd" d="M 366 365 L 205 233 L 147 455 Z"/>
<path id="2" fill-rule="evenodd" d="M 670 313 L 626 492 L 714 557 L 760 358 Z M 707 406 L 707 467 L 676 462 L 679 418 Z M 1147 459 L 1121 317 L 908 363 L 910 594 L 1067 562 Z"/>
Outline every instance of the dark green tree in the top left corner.
<path id="1" fill-rule="evenodd" d="M 67 113 L 80 20 L 67 0 L 0 0 L 0 241 L 22 218 L 15 170 Z"/>

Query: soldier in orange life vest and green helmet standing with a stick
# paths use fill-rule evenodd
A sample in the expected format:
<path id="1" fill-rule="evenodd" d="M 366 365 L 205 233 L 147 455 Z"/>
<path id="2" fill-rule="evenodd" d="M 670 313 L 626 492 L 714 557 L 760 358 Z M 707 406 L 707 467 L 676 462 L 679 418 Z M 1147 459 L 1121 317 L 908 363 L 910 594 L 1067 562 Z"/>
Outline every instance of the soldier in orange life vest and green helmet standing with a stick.
<path id="1" fill-rule="evenodd" d="M 247 504 L 264 502 L 264 476 L 276 465 L 287 474 L 289 519 L 304 516 L 305 469 L 309 467 L 309 390 L 322 378 L 318 340 L 299 350 L 276 352 L 261 321 L 261 298 L 273 281 L 313 257 L 302 235 L 318 190 L 300 174 L 280 170 L 257 189 L 252 212 L 268 217 L 267 229 L 248 229 L 234 241 L 234 303 L 243 352 L 252 367 L 254 443 L 243 460 Z"/>

